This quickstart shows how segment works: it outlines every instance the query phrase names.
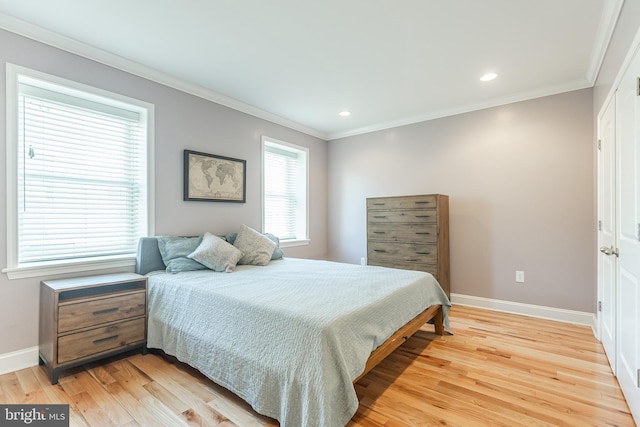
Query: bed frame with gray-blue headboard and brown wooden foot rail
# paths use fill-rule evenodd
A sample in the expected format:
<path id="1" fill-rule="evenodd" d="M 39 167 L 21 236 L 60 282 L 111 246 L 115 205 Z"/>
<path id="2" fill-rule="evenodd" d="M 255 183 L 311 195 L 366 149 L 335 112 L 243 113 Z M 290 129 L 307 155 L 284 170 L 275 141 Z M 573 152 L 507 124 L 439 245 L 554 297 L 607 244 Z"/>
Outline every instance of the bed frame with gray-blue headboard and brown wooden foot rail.
<path id="1" fill-rule="evenodd" d="M 147 274 L 154 270 L 164 270 L 166 267 L 162 262 L 162 256 L 158 249 L 158 241 L 155 237 L 143 237 L 138 244 L 138 256 L 136 257 L 136 269 L 138 274 Z M 438 335 L 444 335 L 444 316 L 442 305 L 432 305 L 418 314 L 416 317 L 407 322 L 398 329 L 385 342 L 376 348 L 365 365 L 364 371 L 358 376 L 353 383 L 357 383 L 376 365 L 382 362 L 396 348 L 400 347 L 407 339 L 415 334 L 425 323 L 432 321 L 435 326 L 435 332 Z"/>

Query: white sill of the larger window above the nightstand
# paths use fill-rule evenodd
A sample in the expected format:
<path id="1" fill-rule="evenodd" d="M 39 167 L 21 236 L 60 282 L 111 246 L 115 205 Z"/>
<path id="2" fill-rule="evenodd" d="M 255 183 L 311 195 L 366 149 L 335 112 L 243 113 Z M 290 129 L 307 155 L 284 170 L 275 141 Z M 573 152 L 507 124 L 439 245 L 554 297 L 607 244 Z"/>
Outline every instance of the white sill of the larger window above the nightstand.
<path id="1" fill-rule="evenodd" d="M 108 259 L 92 259 L 70 262 L 47 262 L 29 266 L 18 266 L 2 269 L 10 280 L 26 279 L 30 277 L 51 277 L 58 274 L 78 273 L 81 271 L 103 270 L 108 268 L 122 268 L 135 266 L 135 257 L 119 257 Z"/>

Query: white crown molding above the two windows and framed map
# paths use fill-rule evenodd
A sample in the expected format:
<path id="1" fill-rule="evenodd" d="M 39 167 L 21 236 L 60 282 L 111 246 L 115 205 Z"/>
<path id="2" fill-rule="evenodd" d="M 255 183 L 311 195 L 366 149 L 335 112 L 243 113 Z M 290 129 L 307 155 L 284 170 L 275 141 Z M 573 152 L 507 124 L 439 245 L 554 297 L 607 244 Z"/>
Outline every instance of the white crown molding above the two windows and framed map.
<path id="1" fill-rule="evenodd" d="M 119 55 L 115 55 L 102 49 L 98 49 L 94 46 L 81 43 L 77 40 L 73 40 L 56 32 L 22 21 L 13 16 L 0 13 L 0 28 L 26 37 L 28 39 L 64 50 L 66 52 L 82 56 L 103 65 L 116 68 L 120 71 L 124 71 L 129 74 L 133 74 L 135 76 L 159 83 L 163 86 L 177 89 L 181 92 L 185 92 L 190 95 L 194 95 L 199 98 L 214 102 L 216 104 L 234 109 L 236 111 L 249 114 L 259 119 L 267 120 L 269 122 L 302 132 L 310 136 L 314 136 L 316 138 L 320 138 L 322 140 L 327 139 L 327 135 L 325 133 L 320 132 L 316 129 L 312 129 L 307 126 L 301 125 L 300 123 L 285 119 L 276 114 L 264 111 L 258 107 L 246 104 L 244 102 L 238 101 L 237 99 L 230 98 L 210 89 L 206 89 L 202 86 L 188 83 L 184 80 L 178 79 L 169 74 L 162 73 L 138 62 L 123 58 Z"/>

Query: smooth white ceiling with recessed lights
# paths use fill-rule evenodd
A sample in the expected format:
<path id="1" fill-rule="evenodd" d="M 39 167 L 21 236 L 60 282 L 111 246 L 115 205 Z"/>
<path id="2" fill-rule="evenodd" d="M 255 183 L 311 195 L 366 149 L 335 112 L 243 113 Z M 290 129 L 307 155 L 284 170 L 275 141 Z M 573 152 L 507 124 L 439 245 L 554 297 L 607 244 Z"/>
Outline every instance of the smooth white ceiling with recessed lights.
<path id="1" fill-rule="evenodd" d="M 335 139 L 591 87 L 622 1 L 0 0 L 0 27 Z"/>

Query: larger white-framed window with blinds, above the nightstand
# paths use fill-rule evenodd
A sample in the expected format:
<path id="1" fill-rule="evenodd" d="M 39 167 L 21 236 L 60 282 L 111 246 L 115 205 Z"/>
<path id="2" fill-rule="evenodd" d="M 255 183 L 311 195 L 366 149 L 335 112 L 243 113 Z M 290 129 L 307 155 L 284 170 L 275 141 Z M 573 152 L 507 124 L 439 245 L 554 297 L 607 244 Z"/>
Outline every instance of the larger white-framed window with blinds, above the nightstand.
<path id="1" fill-rule="evenodd" d="M 153 106 L 7 65 L 9 278 L 131 265 Z"/>

